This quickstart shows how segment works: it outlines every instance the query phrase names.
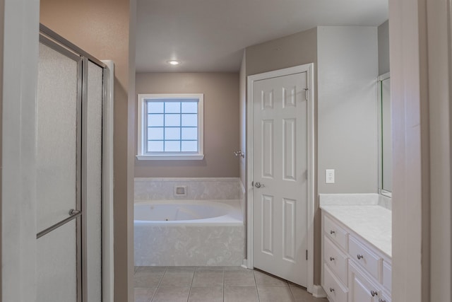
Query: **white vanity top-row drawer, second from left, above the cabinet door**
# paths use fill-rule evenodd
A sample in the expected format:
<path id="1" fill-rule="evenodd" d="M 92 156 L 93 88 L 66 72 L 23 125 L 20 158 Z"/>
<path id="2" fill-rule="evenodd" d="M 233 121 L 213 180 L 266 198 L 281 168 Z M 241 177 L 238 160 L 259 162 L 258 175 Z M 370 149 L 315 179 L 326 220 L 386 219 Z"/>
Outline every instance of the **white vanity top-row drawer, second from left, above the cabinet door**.
<path id="1" fill-rule="evenodd" d="M 350 257 L 371 274 L 371 276 L 379 280 L 379 271 L 383 260 L 375 255 L 374 252 L 364 248 L 353 236 L 349 237 L 348 249 Z"/>

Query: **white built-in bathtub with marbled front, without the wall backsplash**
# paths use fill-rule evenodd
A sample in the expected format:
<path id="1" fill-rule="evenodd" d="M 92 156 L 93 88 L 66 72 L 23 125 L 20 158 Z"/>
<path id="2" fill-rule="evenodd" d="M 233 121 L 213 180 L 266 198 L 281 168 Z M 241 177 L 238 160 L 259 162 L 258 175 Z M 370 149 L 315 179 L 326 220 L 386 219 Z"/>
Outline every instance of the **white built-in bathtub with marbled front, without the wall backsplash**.
<path id="1" fill-rule="evenodd" d="M 136 201 L 134 215 L 136 266 L 242 265 L 239 200 Z"/>

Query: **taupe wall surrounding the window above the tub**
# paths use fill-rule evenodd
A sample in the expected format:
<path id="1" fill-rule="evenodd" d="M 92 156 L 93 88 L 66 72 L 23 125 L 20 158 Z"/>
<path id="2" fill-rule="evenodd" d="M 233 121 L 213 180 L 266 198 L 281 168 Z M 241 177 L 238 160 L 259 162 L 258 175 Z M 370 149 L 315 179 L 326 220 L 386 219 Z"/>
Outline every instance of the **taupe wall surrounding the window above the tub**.
<path id="1" fill-rule="evenodd" d="M 204 159 L 136 159 L 135 177 L 239 177 L 239 158 L 233 153 L 239 150 L 239 74 L 136 74 L 136 93 L 204 93 Z"/>

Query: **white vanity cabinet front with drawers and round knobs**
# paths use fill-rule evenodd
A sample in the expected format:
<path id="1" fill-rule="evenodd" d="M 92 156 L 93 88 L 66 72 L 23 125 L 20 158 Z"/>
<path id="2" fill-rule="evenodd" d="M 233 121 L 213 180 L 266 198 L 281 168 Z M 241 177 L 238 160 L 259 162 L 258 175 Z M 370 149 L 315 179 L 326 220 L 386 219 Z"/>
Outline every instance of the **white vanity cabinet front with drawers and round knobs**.
<path id="1" fill-rule="evenodd" d="M 391 258 L 322 211 L 321 285 L 331 302 L 391 302 Z"/>

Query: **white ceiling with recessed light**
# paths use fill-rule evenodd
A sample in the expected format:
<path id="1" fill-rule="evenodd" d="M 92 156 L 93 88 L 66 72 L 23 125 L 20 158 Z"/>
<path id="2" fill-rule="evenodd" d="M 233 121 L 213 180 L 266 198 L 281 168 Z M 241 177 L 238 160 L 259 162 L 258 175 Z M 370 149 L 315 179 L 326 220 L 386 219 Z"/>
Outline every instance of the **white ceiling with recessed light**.
<path id="1" fill-rule="evenodd" d="M 136 71 L 239 71 L 245 47 L 318 25 L 387 19 L 388 0 L 138 0 Z"/>

